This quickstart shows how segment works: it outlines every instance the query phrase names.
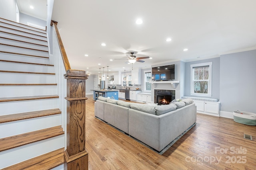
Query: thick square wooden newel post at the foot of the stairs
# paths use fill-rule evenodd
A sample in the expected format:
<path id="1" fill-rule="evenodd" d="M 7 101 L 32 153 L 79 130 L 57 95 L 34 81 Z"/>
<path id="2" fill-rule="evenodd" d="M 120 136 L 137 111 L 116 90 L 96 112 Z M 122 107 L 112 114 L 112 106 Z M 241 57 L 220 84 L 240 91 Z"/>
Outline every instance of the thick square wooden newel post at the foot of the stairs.
<path id="1" fill-rule="evenodd" d="M 88 152 L 85 148 L 85 80 L 84 70 L 67 70 L 67 148 L 64 152 L 64 170 L 88 170 Z"/>

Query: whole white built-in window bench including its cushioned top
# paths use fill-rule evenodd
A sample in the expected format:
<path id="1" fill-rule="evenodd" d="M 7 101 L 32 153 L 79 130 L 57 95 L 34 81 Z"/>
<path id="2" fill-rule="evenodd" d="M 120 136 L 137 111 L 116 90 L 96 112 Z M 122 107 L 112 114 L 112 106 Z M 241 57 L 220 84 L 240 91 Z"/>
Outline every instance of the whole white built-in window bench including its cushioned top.
<path id="1" fill-rule="evenodd" d="M 196 104 L 197 112 L 220 116 L 220 102 L 218 99 L 183 96 L 182 99 L 191 98 Z"/>

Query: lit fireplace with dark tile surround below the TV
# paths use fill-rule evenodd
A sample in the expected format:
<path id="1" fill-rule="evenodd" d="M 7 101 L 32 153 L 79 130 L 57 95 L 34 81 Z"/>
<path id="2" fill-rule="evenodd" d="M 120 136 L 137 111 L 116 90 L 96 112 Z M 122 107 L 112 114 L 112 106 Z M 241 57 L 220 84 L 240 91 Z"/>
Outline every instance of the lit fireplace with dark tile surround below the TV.
<path id="1" fill-rule="evenodd" d="M 170 104 L 175 99 L 175 90 L 154 90 L 154 103 L 158 105 Z"/>

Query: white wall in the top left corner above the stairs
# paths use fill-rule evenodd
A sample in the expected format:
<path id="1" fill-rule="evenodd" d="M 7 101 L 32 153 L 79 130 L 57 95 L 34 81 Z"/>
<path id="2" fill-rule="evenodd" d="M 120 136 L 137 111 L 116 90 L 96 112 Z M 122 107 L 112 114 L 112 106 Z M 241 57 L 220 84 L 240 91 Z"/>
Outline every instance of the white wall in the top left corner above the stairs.
<path id="1" fill-rule="evenodd" d="M 16 22 L 16 0 L 0 0 L 0 18 Z"/>

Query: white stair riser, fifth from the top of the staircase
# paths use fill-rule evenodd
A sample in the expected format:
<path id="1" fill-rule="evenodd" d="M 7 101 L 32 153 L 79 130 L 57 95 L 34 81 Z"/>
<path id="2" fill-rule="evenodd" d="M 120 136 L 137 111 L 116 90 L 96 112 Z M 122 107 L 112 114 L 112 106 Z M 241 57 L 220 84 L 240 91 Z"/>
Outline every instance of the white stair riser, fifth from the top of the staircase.
<path id="1" fill-rule="evenodd" d="M 7 45 L 14 45 L 14 46 L 18 46 L 18 47 L 26 47 L 26 48 L 30 48 L 30 49 L 38 49 L 38 50 L 48 51 L 48 47 L 46 47 L 46 46 L 36 45 L 36 44 L 31 44 L 31 43 L 24 43 L 24 42 L 14 41 L 14 40 L 10 40 L 10 39 L 0 38 L 0 43 L 7 44 Z"/>

